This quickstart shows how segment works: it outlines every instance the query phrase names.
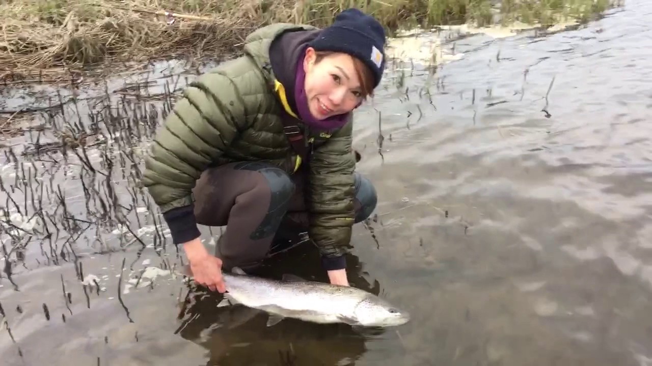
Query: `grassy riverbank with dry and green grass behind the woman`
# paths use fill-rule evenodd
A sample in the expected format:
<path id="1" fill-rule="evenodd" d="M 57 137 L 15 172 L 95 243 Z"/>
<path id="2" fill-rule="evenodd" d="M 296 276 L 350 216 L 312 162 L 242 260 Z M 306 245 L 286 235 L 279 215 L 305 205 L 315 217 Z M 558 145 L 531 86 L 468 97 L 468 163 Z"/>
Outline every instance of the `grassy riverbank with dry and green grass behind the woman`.
<path id="1" fill-rule="evenodd" d="M 512 21 L 586 21 L 621 0 L 355 0 L 388 31 Z M 0 83 L 78 79 L 123 63 L 237 54 L 252 30 L 274 21 L 325 26 L 349 0 L 25 0 L 0 5 Z M 614 4 L 615 3 L 615 4 Z M 170 14 L 170 12 L 172 14 Z M 117 66 L 120 64 L 120 66 Z"/>

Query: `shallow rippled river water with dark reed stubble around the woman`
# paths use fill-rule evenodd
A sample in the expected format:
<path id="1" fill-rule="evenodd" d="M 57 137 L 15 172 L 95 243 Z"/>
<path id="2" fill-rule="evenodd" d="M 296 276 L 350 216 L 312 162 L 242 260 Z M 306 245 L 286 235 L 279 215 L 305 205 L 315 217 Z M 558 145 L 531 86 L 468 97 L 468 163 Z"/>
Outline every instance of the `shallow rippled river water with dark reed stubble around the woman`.
<path id="1" fill-rule="evenodd" d="M 139 97 L 148 113 L 123 76 L 78 91 L 78 107 L 3 141 L 0 205 L 14 226 L 0 228 L 2 365 L 652 365 L 651 18 L 652 3 L 629 0 L 554 34 L 441 33 L 434 75 L 418 52 L 390 66 L 356 117 L 358 169 L 379 204 L 355 227 L 349 276 L 411 321 L 369 333 L 268 328 L 189 292 L 135 183 L 162 98 Z M 437 33 L 415 37 L 427 49 Z M 158 93 L 186 82 L 166 72 L 147 76 Z M 105 88 L 131 120 L 98 117 Z M 47 92 L 3 91 L 0 109 Z M 119 128 L 64 160 L 44 147 L 76 108 L 96 136 Z M 20 154 L 37 139 L 38 154 Z M 202 230 L 213 245 L 219 229 Z M 325 281 L 312 247 L 265 270 Z"/>

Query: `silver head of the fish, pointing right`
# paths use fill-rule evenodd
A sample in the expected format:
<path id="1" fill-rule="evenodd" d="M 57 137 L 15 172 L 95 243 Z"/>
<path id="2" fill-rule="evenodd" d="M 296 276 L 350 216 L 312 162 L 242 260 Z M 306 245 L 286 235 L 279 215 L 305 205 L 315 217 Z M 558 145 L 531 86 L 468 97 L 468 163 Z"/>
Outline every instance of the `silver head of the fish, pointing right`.
<path id="1" fill-rule="evenodd" d="M 398 309 L 378 296 L 365 296 L 355 305 L 353 311 L 359 324 L 363 326 L 400 326 L 409 321 L 409 313 Z"/>

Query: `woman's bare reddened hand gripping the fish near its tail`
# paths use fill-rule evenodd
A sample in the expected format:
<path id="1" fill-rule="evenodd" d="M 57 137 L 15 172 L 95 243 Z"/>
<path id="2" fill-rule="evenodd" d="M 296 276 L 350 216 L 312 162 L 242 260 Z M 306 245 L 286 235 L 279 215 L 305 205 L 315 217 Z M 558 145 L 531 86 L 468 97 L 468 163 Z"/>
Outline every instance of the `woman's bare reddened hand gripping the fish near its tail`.
<path id="1" fill-rule="evenodd" d="M 206 251 L 200 238 L 183 244 L 196 283 L 213 291 L 226 292 L 222 280 L 222 260 Z"/>

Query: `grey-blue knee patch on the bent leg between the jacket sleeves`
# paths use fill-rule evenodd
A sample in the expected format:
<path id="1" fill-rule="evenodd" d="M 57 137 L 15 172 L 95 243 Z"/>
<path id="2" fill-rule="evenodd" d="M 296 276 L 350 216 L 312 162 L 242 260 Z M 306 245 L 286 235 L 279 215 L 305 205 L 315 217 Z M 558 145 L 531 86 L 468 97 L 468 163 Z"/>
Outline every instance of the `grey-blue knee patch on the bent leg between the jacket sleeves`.
<path id="1" fill-rule="evenodd" d="M 261 207 L 267 210 L 267 214 L 260 225 L 250 234 L 251 240 L 259 240 L 273 236 L 288 211 L 289 201 L 294 194 L 295 186 L 288 173 L 260 162 L 239 163 L 233 167 L 235 170 L 256 171 L 263 176 L 263 184 L 267 184 L 270 192 L 269 207 Z"/>

